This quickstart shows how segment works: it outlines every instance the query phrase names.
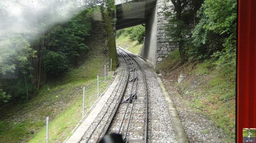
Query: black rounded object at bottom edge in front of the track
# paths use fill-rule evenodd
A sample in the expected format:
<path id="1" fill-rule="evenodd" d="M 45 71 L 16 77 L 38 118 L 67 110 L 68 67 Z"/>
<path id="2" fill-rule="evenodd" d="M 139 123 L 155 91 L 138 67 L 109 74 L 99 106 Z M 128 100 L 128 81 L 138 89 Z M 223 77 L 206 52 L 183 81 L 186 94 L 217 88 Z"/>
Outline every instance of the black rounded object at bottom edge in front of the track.
<path id="1" fill-rule="evenodd" d="M 99 143 L 124 143 L 122 139 L 122 135 L 117 133 L 111 133 L 105 135 Z"/>

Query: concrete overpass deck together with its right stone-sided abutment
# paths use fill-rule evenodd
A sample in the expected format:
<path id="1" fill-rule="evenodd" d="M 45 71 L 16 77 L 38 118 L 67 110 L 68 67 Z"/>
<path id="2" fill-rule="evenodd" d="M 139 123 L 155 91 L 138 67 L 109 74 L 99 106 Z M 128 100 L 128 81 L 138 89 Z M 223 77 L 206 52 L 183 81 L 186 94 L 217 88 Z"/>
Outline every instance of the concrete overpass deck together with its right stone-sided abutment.
<path id="1" fill-rule="evenodd" d="M 116 30 L 145 24 L 145 40 L 139 56 L 154 67 L 178 48 L 167 41 L 165 25 L 168 20 L 161 13 L 163 7 L 164 0 L 116 0 Z"/>

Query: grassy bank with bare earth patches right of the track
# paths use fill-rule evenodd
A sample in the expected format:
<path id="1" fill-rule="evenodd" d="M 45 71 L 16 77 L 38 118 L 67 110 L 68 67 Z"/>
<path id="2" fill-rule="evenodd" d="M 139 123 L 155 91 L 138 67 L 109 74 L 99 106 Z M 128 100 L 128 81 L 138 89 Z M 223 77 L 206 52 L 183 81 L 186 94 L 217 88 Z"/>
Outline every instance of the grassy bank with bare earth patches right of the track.
<path id="1" fill-rule="evenodd" d="M 226 72 L 213 59 L 204 62 L 180 60 L 178 50 L 174 50 L 157 65 L 156 71 L 164 74 L 164 79 L 174 83 L 188 107 L 214 121 L 231 140 L 235 138 L 235 69 Z M 188 77 L 178 83 L 180 74 Z M 228 139 L 226 140 L 228 141 Z"/>

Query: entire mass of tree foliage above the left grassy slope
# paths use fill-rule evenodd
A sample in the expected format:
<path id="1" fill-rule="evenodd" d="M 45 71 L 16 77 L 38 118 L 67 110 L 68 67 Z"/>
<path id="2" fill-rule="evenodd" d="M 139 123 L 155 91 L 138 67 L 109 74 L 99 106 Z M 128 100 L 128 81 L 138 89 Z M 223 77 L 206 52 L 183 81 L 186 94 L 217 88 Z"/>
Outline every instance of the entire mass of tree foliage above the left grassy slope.
<path id="1" fill-rule="evenodd" d="M 45 19 L 41 23 L 42 33 L 31 42 L 25 35 L 1 39 L 0 104 L 11 97 L 28 99 L 47 77 L 58 76 L 76 65 L 79 53 L 88 50 L 85 37 L 91 26 L 86 15 L 87 9 L 76 12 L 69 21 L 52 25 L 47 31 Z"/>

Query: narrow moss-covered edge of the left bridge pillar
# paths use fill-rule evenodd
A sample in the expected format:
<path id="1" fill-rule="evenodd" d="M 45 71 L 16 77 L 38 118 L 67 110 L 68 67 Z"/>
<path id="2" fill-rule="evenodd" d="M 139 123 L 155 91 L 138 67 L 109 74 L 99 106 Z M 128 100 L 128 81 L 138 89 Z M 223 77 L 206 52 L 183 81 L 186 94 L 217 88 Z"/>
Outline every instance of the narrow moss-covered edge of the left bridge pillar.
<path id="1" fill-rule="evenodd" d="M 109 62 L 112 59 L 112 71 L 114 71 L 118 63 L 114 32 L 113 32 L 109 12 L 107 10 L 103 10 L 102 14 L 105 20 L 107 34 L 108 34 Z"/>

